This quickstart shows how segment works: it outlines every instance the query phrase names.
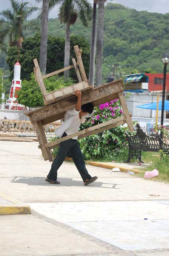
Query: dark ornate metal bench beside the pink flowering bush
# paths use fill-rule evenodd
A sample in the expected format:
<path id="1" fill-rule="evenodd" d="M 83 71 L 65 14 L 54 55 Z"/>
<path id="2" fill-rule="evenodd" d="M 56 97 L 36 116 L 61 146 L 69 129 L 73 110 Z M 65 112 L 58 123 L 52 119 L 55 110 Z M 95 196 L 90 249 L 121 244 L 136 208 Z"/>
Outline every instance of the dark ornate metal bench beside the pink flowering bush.
<path id="1" fill-rule="evenodd" d="M 151 137 L 146 135 L 140 128 L 139 124 L 136 124 L 137 132 L 136 135 L 130 136 L 126 133 L 128 144 L 129 144 L 129 153 L 127 163 L 130 162 L 131 158 L 136 157 L 140 163 L 143 163 L 141 160 L 141 152 L 159 152 L 163 150 L 165 154 L 169 154 L 169 145 L 165 144 L 159 134 L 156 137 Z"/>

